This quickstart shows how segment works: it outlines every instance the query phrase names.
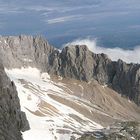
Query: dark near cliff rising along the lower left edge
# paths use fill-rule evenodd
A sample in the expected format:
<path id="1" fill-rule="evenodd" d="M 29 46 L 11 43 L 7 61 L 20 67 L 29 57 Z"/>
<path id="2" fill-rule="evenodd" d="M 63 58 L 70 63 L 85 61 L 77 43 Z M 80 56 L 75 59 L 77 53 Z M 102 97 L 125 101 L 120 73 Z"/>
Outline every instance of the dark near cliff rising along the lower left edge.
<path id="1" fill-rule="evenodd" d="M 22 140 L 21 132 L 29 129 L 20 110 L 16 87 L 0 64 L 0 140 Z"/>

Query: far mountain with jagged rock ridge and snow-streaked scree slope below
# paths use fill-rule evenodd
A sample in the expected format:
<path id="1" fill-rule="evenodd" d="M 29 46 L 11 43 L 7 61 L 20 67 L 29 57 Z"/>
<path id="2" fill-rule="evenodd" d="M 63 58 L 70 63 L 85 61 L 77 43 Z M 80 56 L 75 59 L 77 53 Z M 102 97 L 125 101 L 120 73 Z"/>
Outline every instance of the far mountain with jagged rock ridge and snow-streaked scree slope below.
<path id="1" fill-rule="evenodd" d="M 58 50 L 25 35 L 0 37 L 0 59 L 31 127 L 25 140 L 69 140 L 140 121 L 139 64 L 111 61 L 84 44 Z"/>

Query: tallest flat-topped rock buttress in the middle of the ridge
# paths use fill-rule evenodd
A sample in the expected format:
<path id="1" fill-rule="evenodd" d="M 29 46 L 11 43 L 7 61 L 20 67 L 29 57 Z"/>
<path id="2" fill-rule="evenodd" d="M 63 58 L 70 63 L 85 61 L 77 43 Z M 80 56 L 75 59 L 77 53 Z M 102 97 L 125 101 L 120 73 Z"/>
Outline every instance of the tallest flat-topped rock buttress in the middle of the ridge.
<path id="1" fill-rule="evenodd" d="M 65 47 L 60 60 L 60 75 L 85 81 L 92 79 L 94 61 L 86 46 Z"/>

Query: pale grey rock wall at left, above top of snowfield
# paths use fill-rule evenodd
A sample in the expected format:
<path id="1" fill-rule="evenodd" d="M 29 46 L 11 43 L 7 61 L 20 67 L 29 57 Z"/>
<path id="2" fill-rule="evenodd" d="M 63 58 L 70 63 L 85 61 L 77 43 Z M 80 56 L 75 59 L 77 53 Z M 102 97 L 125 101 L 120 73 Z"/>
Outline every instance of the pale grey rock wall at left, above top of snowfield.
<path id="1" fill-rule="evenodd" d="M 53 49 L 41 36 L 0 37 L 0 58 L 6 68 L 38 66 L 44 70 Z"/>

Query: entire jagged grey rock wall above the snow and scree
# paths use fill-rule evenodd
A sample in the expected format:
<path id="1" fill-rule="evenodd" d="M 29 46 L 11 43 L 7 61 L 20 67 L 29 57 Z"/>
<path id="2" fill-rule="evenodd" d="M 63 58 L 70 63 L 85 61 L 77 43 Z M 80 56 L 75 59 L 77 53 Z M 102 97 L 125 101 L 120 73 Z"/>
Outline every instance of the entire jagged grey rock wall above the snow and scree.
<path id="1" fill-rule="evenodd" d="M 85 45 L 68 46 L 59 52 L 40 36 L 1 37 L 0 56 L 7 68 L 33 66 L 66 78 L 95 79 L 140 105 L 140 65 L 113 62 Z"/>

